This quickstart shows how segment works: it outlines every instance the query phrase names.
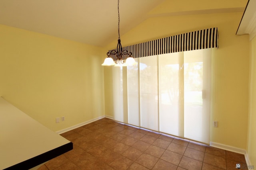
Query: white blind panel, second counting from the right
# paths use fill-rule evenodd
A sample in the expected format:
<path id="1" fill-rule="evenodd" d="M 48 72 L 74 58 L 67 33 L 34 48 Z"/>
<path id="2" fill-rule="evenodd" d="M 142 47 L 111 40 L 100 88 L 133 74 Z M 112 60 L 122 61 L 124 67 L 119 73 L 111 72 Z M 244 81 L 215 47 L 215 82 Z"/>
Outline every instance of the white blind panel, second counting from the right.
<path id="1" fill-rule="evenodd" d="M 184 137 L 183 53 L 159 55 L 159 130 Z"/>

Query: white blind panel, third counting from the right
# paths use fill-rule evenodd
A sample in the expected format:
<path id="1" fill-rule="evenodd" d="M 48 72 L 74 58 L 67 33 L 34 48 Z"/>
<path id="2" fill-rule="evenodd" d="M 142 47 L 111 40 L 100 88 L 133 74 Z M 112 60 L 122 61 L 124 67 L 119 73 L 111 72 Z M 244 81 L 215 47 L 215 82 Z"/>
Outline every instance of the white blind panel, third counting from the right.
<path id="1" fill-rule="evenodd" d="M 157 56 L 140 59 L 140 126 L 158 131 Z"/>

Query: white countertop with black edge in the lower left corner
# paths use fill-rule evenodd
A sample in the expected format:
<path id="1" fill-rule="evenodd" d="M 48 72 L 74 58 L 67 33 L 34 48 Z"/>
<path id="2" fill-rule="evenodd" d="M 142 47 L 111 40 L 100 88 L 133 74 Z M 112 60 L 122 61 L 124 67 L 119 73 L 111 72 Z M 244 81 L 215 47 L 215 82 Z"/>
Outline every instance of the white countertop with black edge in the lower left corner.
<path id="1" fill-rule="evenodd" d="M 0 97 L 1 170 L 27 170 L 72 149 L 72 142 Z"/>

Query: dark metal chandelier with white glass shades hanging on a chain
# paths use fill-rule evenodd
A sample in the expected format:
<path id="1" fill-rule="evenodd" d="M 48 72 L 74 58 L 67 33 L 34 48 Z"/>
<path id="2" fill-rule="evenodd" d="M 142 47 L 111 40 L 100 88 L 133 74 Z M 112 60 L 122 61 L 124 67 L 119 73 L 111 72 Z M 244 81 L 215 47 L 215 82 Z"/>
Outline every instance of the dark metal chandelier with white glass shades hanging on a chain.
<path id="1" fill-rule="evenodd" d="M 121 45 L 121 39 L 120 39 L 120 16 L 119 16 L 119 0 L 118 0 L 118 43 L 116 50 L 111 50 L 107 53 L 107 58 L 104 60 L 104 63 L 101 64 L 102 66 L 130 66 L 135 65 L 137 62 L 132 57 L 132 53 L 128 52 L 127 50 L 123 50 Z M 117 60 L 114 61 L 110 56 L 114 56 Z M 124 57 L 127 56 L 126 61 L 124 62 Z"/>

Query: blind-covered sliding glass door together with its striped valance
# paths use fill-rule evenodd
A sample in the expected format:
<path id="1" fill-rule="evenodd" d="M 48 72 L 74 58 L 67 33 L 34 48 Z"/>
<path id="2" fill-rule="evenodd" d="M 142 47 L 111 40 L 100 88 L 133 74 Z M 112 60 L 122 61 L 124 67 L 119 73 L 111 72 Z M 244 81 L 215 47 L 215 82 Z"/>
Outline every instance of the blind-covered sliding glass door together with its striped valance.
<path id="1" fill-rule="evenodd" d="M 123 47 L 138 65 L 113 68 L 114 119 L 209 143 L 212 48 L 216 27 Z"/>

